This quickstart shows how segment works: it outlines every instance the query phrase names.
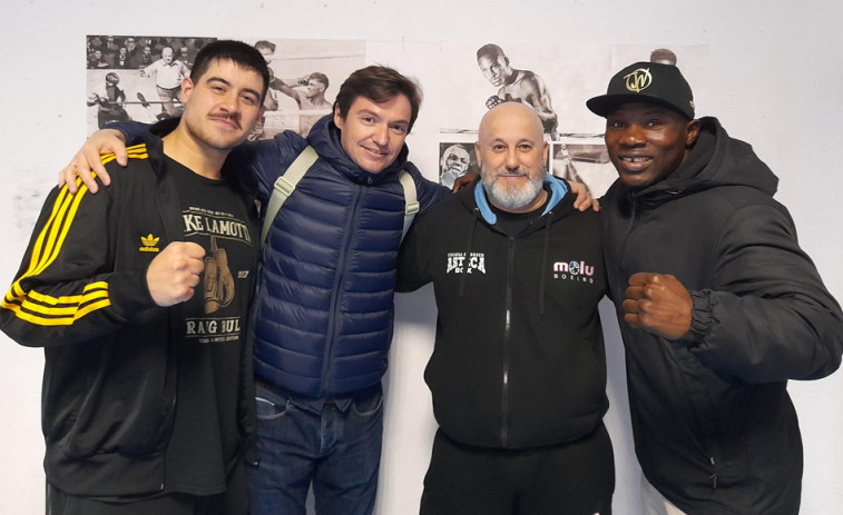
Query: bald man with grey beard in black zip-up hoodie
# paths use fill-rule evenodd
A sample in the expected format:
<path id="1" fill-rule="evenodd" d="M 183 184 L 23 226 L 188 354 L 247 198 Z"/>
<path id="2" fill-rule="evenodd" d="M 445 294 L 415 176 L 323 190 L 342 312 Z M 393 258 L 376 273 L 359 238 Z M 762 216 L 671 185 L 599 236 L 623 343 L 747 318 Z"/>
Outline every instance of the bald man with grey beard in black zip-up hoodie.
<path id="1" fill-rule="evenodd" d="M 610 514 L 599 217 L 545 170 L 529 107 L 492 108 L 474 148 L 480 179 L 421 216 L 400 254 L 399 291 L 433 283 L 439 308 L 421 514 Z"/>

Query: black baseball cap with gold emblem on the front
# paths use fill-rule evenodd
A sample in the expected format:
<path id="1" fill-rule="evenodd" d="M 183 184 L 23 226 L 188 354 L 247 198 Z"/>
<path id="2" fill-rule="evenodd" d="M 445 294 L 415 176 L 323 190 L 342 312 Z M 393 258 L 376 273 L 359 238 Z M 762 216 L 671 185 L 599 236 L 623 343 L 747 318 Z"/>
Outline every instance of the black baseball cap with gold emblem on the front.
<path id="1" fill-rule="evenodd" d="M 606 95 L 586 106 L 595 115 L 610 115 L 623 103 L 645 102 L 674 109 L 694 119 L 694 93 L 678 68 L 658 62 L 636 62 L 615 73 Z"/>

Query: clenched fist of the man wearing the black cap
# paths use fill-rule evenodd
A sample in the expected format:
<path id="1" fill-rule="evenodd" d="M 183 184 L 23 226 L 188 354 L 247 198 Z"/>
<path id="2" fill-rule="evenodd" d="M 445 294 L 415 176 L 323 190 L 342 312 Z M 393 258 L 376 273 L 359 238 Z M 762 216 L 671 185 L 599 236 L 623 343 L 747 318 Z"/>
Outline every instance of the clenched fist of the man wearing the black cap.
<path id="1" fill-rule="evenodd" d="M 624 321 L 667 339 L 688 334 L 694 301 L 676 277 L 666 274 L 638 273 L 629 278 L 621 305 Z"/>

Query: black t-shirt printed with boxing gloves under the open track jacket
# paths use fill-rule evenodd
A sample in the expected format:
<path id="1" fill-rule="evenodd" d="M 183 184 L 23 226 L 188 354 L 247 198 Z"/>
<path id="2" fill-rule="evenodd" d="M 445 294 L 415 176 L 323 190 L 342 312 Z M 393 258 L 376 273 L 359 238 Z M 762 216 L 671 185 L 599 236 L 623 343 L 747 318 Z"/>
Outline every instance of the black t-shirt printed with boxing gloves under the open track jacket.
<path id="1" fill-rule="evenodd" d="M 176 418 L 165 492 L 210 495 L 225 488 L 241 456 L 238 398 L 256 256 L 246 201 L 167 158 L 178 187 L 185 239 L 205 248 L 205 270 L 177 328 Z"/>

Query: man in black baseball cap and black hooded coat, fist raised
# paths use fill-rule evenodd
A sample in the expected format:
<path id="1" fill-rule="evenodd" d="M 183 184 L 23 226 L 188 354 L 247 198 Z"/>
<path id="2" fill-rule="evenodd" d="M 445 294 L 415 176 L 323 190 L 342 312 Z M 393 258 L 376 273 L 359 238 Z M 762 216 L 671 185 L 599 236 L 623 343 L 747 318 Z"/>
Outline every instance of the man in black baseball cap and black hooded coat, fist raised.
<path id="1" fill-rule="evenodd" d="M 843 314 L 773 200 L 777 178 L 679 69 L 637 62 L 588 102 L 618 170 L 602 200 L 645 514 L 798 513 L 787 379 L 834 372 Z"/>

